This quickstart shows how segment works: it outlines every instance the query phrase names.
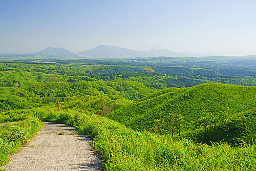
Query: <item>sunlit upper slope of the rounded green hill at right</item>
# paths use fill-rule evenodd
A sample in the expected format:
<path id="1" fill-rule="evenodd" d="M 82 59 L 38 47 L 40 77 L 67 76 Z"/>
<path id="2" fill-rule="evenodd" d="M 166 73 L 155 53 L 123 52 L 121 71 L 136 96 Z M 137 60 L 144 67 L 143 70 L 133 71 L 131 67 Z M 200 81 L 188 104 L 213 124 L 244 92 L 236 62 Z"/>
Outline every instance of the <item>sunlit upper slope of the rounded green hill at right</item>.
<path id="1" fill-rule="evenodd" d="M 256 86 L 209 83 L 176 90 L 168 89 L 165 94 L 162 92 L 159 92 L 159 96 L 150 95 L 149 98 L 145 97 L 147 100 L 113 111 L 107 118 L 141 130 L 149 130 L 162 124 L 161 128 L 171 133 L 169 116 L 177 113 L 183 117 L 181 133 L 187 135 L 194 130 L 203 132 L 201 128 L 204 123 L 206 127 L 203 128 L 210 132 L 211 127 L 216 128 L 218 124 L 222 126 L 229 117 L 256 107 Z M 160 123 L 156 123 L 155 119 L 158 118 L 163 118 L 163 122 L 158 120 Z M 207 119 L 208 123 L 205 121 Z"/>

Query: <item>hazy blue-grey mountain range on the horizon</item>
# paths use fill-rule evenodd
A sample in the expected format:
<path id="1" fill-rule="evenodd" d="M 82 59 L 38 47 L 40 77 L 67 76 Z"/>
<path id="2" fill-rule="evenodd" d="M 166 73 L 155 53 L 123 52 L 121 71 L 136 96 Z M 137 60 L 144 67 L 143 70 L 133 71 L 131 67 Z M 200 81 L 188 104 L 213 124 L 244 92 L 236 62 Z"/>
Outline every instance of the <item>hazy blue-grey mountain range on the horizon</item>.
<path id="1" fill-rule="evenodd" d="M 0 55 L 3 56 L 3 55 Z M 5 55 L 6 56 L 6 55 Z M 42 51 L 29 54 L 9 54 L 9 56 L 58 56 L 58 57 L 107 57 L 107 58 L 138 58 L 138 57 L 199 57 L 199 56 L 219 56 L 214 53 L 190 53 L 190 52 L 171 52 L 168 49 L 140 51 L 117 46 L 99 45 L 84 52 L 73 53 L 60 47 L 48 47 Z"/>

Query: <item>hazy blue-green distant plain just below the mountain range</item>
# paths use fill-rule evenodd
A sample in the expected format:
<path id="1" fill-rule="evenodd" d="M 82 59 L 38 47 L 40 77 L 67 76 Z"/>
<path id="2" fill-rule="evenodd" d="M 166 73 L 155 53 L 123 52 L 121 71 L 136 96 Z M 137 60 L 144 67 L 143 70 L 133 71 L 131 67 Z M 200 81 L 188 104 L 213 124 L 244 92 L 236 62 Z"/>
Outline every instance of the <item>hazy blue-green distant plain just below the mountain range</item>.
<path id="1" fill-rule="evenodd" d="M 193 68 L 211 68 L 236 70 L 256 69 L 256 56 L 217 56 L 217 57 L 153 57 L 153 58 L 60 58 L 60 57 L 0 57 L 6 62 L 34 63 L 37 61 L 51 61 L 61 64 L 105 64 L 105 65 L 132 65 L 132 66 L 185 66 Z M 39 63 L 34 63 L 39 64 Z M 52 64 L 54 65 L 54 64 Z M 0 65 L 1 68 L 1 65 Z M 154 68 L 152 68 L 154 69 Z"/>

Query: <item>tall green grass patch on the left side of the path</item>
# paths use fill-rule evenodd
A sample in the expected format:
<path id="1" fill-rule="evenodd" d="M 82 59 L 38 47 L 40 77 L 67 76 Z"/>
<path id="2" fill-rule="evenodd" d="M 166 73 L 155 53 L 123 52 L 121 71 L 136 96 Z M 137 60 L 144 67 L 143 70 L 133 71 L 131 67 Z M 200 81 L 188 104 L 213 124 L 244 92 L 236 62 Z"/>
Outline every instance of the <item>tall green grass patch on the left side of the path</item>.
<path id="1" fill-rule="evenodd" d="M 37 117 L 0 126 L 0 166 L 8 162 L 8 155 L 19 150 L 43 126 Z"/>

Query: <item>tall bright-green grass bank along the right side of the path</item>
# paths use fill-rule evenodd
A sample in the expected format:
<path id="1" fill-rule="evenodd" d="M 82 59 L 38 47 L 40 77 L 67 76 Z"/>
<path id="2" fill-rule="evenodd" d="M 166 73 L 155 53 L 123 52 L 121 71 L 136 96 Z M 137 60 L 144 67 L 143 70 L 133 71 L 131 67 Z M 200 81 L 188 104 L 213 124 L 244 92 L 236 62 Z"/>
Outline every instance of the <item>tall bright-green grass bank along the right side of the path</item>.
<path id="1" fill-rule="evenodd" d="M 235 148 L 227 143 L 208 146 L 147 131 L 138 133 L 82 110 L 35 108 L 19 113 L 31 113 L 90 133 L 92 147 L 102 155 L 105 171 L 253 171 L 256 165 L 254 143 Z"/>

